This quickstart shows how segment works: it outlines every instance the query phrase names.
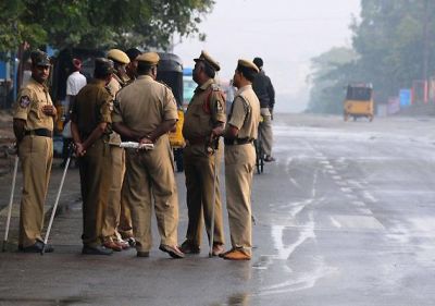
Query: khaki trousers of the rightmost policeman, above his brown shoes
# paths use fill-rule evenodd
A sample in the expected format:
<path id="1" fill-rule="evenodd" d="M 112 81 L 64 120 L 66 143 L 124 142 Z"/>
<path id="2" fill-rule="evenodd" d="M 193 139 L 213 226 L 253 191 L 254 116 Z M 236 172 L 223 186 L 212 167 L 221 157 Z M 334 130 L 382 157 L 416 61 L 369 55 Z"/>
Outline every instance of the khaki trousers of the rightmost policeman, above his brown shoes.
<path id="1" fill-rule="evenodd" d="M 226 208 L 233 248 L 251 254 L 251 186 L 256 166 L 252 144 L 225 146 Z"/>

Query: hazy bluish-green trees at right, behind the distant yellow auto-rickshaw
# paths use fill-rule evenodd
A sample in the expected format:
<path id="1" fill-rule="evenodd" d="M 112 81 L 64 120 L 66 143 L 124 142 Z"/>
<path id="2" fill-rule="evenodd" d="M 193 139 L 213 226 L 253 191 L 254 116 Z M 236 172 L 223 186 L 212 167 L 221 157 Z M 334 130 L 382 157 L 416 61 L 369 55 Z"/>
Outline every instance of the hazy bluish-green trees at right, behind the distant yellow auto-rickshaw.
<path id="1" fill-rule="evenodd" d="M 413 81 L 433 76 L 434 16 L 430 0 L 361 0 L 361 16 L 350 27 L 357 56 L 332 50 L 313 59 L 310 111 L 340 112 L 344 95 L 337 88 L 349 82 L 372 83 L 377 102 L 386 102 Z M 319 62 L 323 58 L 332 62 Z"/>

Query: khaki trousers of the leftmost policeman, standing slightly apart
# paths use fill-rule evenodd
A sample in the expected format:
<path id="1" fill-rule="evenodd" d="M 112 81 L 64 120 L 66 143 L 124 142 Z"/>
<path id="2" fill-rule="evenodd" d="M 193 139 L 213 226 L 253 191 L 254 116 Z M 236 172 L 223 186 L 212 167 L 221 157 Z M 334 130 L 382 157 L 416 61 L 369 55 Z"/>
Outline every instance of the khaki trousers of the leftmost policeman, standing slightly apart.
<path id="1" fill-rule="evenodd" d="M 37 240 L 42 241 L 44 204 L 53 161 L 53 142 L 49 137 L 25 136 L 18 154 L 23 169 L 18 244 L 27 247 Z"/>

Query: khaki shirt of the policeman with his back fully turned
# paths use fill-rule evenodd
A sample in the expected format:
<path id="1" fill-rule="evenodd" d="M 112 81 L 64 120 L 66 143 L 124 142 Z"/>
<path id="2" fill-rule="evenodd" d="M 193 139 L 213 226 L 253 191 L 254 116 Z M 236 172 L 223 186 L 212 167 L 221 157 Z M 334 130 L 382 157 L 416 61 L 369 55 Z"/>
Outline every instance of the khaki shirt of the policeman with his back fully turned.
<path id="1" fill-rule="evenodd" d="M 140 75 L 116 95 L 113 122 L 147 135 L 165 120 L 178 120 L 175 97 L 166 85 Z"/>

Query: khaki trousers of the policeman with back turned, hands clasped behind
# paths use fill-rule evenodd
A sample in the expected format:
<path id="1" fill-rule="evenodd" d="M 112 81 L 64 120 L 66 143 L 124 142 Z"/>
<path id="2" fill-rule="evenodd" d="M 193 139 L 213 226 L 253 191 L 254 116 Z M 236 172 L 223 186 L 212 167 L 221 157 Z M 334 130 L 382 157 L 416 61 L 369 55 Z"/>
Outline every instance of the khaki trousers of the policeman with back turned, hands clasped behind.
<path id="1" fill-rule="evenodd" d="M 148 252 L 152 246 L 152 197 L 161 243 L 177 245 L 178 198 L 167 135 L 153 150 L 126 149 L 126 166 L 123 197 L 132 210 L 136 249 Z"/>

